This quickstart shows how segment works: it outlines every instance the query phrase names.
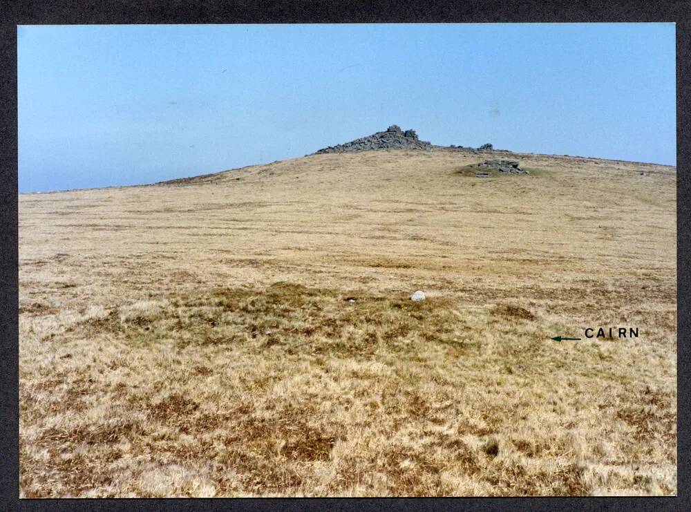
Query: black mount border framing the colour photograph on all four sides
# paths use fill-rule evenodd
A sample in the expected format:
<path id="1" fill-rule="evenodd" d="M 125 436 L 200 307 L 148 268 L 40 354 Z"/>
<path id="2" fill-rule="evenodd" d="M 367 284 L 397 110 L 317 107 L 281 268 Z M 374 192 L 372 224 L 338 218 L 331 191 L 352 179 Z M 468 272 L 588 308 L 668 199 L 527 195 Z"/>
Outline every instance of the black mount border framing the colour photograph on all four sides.
<path id="1" fill-rule="evenodd" d="M 691 1 L 0 0 L 0 510 L 691 510 L 689 361 L 677 345 L 677 497 L 19 500 L 17 25 L 97 23 L 676 23 L 677 340 L 691 311 Z"/>

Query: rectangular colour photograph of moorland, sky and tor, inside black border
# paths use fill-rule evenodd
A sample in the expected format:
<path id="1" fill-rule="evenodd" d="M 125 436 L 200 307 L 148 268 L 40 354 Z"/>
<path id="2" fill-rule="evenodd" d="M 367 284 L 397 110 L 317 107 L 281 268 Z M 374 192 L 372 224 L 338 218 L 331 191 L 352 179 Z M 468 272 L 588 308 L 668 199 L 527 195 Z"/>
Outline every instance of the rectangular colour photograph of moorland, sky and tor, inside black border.
<path id="1" fill-rule="evenodd" d="M 676 496 L 675 30 L 18 24 L 19 498 Z"/>

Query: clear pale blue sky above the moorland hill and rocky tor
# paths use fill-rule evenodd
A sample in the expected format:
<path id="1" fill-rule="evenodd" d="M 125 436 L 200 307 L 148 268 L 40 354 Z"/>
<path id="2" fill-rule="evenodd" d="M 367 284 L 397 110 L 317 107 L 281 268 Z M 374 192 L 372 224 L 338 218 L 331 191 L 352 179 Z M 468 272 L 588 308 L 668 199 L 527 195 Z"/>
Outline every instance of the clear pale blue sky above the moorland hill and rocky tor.
<path id="1" fill-rule="evenodd" d="M 673 23 L 19 26 L 19 191 L 433 144 L 676 164 Z"/>

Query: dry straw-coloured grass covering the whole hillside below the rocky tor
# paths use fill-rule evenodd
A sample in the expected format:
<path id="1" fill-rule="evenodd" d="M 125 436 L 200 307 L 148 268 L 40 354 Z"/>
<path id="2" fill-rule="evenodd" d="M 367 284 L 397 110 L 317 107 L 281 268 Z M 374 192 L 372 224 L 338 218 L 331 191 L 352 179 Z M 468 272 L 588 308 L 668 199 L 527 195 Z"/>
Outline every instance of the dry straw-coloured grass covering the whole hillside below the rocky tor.
<path id="1" fill-rule="evenodd" d="M 675 494 L 674 169 L 509 157 L 20 196 L 21 495 Z"/>

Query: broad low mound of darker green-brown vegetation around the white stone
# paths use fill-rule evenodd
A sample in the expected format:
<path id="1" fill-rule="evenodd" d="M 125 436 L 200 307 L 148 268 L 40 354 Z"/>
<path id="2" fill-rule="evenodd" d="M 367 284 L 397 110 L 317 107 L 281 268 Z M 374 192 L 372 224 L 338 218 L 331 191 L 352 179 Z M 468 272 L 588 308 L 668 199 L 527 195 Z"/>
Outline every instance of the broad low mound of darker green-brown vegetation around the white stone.
<path id="1" fill-rule="evenodd" d="M 347 297 L 357 297 L 348 302 Z M 259 289 L 216 288 L 190 296 L 173 296 L 161 307 L 123 317 L 117 310 L 82 321 L 85 335 L 108 332 L 135 345 L 173 339 L 188 345 L 240 344 L 256 350 L 309 348 L 342 357 L 367 356 L 378 348 L 410 352 L 411 342 L 442 343 L 462 353 L 459 319 L 453 302 L 434 297 L 410 301 L 408 294 L 381 296 L 361 290 L 323 290 L 278 282 Z M 192 369 L 194 374 L 208 374 Z"/>

